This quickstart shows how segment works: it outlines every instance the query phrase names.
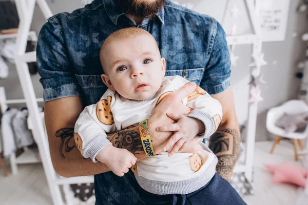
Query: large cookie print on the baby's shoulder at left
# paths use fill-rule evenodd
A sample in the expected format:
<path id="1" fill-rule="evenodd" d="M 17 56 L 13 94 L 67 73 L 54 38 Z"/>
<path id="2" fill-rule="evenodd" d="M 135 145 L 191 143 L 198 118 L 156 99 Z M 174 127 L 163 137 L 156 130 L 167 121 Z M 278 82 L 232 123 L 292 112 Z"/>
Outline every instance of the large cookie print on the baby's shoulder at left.
<path id="1" fill-rule="evenodd" d="M 111 112 L 111 96 L 107 99 L 102 99 L 97 103 L 97 117 L 105 125 L 112 125 L 114 123 L 113 114 Z"/>

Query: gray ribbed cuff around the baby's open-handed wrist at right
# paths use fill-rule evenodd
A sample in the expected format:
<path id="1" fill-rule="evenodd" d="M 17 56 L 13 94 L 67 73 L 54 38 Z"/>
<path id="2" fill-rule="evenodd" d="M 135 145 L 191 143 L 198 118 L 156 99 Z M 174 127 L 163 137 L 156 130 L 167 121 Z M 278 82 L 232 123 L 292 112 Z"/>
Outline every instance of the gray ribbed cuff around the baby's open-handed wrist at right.
<path id="1" fill-rule="evenodd" d="M 203 122 L 205 127 L 205 134 L 204 135 L 197 135 L 198 138 L 207 138 L 211 136 L 214 133 L 215 130 L 215 124 L 213 118 L 206 112 L 203 112 L 201 110 L 192 110 L 189 115 L 186 115 L 187 117 L 192 117 L 199 119 Z"/>

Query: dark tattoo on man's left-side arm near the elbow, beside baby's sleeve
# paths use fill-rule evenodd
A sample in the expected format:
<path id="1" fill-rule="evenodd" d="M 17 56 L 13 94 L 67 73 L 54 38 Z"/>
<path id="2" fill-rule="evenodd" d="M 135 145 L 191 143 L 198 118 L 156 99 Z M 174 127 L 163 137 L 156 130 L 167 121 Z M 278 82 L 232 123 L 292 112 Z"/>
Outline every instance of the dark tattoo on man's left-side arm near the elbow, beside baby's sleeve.
<path id="1" fill-rule="evenodd" d="M 74 128 L 62 128 L 55 132 L 56 137 L 61 138 L 61 145 L 60 145 L 60 155 L 65 158 L 63 153 L 63 146 L 65 152 L 70 152 L 75 147 L 74 140 Z"/>

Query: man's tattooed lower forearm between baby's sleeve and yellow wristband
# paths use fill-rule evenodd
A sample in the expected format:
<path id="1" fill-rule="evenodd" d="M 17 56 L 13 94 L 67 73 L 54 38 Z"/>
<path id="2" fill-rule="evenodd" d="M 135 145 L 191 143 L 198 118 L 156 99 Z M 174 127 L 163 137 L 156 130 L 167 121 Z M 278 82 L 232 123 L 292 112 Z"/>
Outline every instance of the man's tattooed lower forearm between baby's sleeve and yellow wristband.
<path id="1" fill-rule="evenodd" d="M 137 130 L 135 130 L 135 128 L 107 134 L 107 138 L 114 147 L 127 149 L 134 155 L 139 154 L 139 152 L 144 152 L 140 134 Z"/>

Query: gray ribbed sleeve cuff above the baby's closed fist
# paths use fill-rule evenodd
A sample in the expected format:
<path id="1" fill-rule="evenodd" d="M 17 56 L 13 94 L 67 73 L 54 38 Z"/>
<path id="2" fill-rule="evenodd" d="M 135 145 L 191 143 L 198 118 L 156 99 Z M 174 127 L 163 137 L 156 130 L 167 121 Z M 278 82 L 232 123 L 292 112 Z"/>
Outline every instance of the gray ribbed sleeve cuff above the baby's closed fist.
<path id="1" fill-rule="evenodd" d="M 106 134 L 101 134 L 92 139 L 83 149 L 83 157 L 90 157 L 93 162 L 98 162 L 95 156 L 107 145 L 112 145 L 106 137 Z"/>

